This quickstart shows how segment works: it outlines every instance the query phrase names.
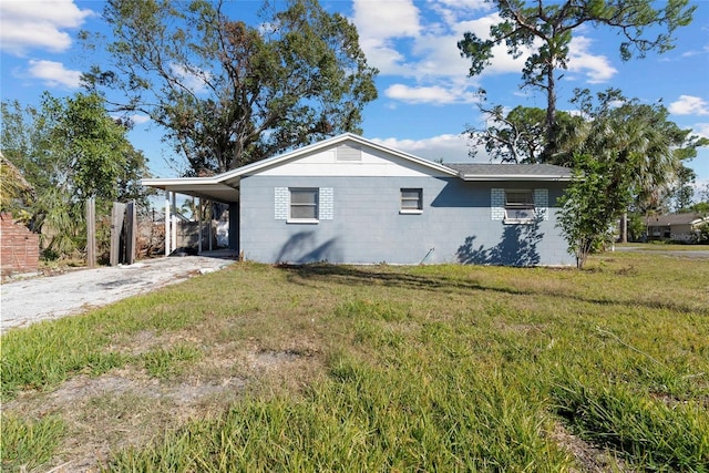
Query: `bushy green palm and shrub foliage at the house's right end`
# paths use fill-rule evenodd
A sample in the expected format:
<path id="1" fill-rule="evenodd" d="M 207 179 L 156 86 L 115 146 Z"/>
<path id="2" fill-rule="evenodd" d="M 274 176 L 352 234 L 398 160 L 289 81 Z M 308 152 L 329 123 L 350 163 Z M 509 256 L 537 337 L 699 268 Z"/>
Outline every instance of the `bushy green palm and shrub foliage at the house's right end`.
<path id="1" fill-rule="evenodd" d="M 682 161 L 706 141 L 668 121 L 661 104 L 640 104 L 608 90 L 594 96 L 577 90 L 574 103 L 586 120 L 561 155 L 571 156 L 576 178 L 562 198 L 559 226 L 577 258 L 607 241 L 612 228 L 634 203 L 657 206 L 676 182 Z"/>

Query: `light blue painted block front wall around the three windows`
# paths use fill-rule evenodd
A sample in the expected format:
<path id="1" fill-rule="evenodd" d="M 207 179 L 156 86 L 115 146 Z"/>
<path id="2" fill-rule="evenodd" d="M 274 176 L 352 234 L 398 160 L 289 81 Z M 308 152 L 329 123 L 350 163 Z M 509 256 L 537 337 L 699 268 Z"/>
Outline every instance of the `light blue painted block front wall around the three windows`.
<path id="1" fill-rule="evenodd" d="M 537 196 L 546 197 L 544 218 L 534 225 L 505 224 L 502 185 L 544 185 Z M 320 189 L 319 222 L 286 220 L 282 200 L 289 186 Z M 247 176 L 240 183 L 239 249 L 261 263 L 572 265 L 556 227 L 555 203 L 563 187 L 429 176 Z M 421 213 L 400 212 L 401 188 L 422 189 Z M 496 207 L 499 219 L 491 215 Z"/>

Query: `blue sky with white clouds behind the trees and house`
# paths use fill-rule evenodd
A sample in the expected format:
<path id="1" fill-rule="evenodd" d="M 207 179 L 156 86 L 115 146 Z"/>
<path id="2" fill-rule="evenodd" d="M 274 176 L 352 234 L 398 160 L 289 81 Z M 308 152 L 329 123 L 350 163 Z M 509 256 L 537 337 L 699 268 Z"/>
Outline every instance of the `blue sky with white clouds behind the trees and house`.
<path id="1" fill-rule="evenodd" d="M 661 1 L 661 0 L 660 0 Z M 449 163 L 471 162 L 464 131 L 480 127 L 476 91 L 489 103 L 546 107 L 537 90 L 521 88 L 525 55 L 513 59 L 504 49 L 474 78 L 456 43 L 465 32 L 486 37 L 497 14 L 484 0 L 320 0 L 357 27 L 368 63 L 379 70 L 379 97 L 363 111 L 362 135 L 374 142 Z M 660 2 L 657 2 L 660 4 Z M 675 31 L 676 48 L 664 54 L 623 62 L 616 31 L 583 27 L 569 47 L 568 70 L 557 85 L 557 109 L 573 112 L 568 99 L 577 88 L 592 92 L 620 89 L 640 103 L 661 101 L 669 120 L 692 134 L 709 137 L 709 0 L 697 6 L 690 25 Z M 232 0 L 233 20 L 255 22 L 260 1 Z M 0 0 L 0 97 L 38 104 L 43 91 L 54 96 L 81 91 L 81 72 L 94 62 L 78 40 L 81 30 L 109 31 L 100 0 Z M 167 165 L 172 147 L 146 116 L 133 117 L 133 145 L 148 158 L 155 177 L 175 177 Z M 489 161 L 479 154 L 475 161 Z M 697 187 L 709 186 L 709 148 L 687 163 Z"/>

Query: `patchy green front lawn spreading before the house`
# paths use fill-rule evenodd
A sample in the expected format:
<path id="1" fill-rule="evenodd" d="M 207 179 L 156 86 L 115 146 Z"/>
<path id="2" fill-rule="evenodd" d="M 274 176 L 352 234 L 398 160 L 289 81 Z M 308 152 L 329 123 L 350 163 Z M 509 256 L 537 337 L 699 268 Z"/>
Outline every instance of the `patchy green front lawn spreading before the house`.
<path id="1" fill-rule="evenodd" d="M 618 470 L 707 472 L 708 318 L 707 260 L 655 253 L 584 271 L 237 264 L 4 335 L 3 467 L 6 419 L 120 377 L 52 401 L 41 464 L 81 456 L 81 412 L 106 409 L 109 471 L 597 467 L 561 425 Z"/>

